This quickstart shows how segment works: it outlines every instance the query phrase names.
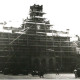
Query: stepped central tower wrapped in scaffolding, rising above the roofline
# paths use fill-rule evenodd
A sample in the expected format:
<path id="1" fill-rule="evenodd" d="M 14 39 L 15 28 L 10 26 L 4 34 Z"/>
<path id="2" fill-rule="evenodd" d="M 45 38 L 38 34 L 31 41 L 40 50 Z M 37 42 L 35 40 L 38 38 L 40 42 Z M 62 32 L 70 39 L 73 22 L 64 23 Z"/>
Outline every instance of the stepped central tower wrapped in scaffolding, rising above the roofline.
<path id="1" fill-rule="evenodd" d="M 46 14 L 43 12 L 43 5 L 33 5 L 30 6 L 30 18 L 25 19 L 23 24 L 25 25 L 25 28 L 29 26 L 29 28 L 34 28 L 36 30 L 49 30 L 50 24 L 49 21 L 46 21 L 46 18 L 43 17 L 43 15 Z"/>

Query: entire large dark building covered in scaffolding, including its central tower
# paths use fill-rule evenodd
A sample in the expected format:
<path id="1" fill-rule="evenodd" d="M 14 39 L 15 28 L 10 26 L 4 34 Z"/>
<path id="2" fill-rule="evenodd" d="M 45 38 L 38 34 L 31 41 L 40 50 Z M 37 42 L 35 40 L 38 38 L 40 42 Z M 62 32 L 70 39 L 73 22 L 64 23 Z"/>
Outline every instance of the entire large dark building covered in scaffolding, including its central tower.
<path id="1" fill-rule="evenodd" d="M 34 4 L 20 29 L 0 32 L 0 71 L 49 73 L 58 68 L 61 72 L 73 72 L 76 48 L 71 46 L 69 32 L 51 30 L 53 25 L 46 21 L 44 14 L 43 5 Z"/>

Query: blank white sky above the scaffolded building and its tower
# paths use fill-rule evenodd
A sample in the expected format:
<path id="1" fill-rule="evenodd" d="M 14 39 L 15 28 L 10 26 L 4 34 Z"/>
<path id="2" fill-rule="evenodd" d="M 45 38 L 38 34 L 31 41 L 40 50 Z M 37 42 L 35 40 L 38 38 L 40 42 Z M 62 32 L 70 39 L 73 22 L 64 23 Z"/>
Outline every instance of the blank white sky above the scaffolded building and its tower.
<path id="1" fill-rule="evenodd" d="M 80 0 L 0 0 L 0 22 L 21 24 L 33 4 L 43 5 L 44 17 L 50 20 L 54 29 L 70 29 L 71 34 L 80 35 Z"/>

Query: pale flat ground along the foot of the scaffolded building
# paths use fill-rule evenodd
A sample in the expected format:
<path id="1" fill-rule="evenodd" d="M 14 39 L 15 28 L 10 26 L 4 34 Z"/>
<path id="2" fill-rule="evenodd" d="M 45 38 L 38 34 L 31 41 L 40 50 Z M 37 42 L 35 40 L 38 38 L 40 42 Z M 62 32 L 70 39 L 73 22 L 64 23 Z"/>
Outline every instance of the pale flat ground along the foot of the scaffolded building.
<path id="1" fill-rule="evenodd" d="M 71 73 L 61 73 L 56 74 L 44 74 L 44 78 L 40 78 L 35 75 L 34 77 L 31 74 L 28 75 L 4 75 L 0 74 L 0 79 L 75 79 L 75 75 Z"/>

